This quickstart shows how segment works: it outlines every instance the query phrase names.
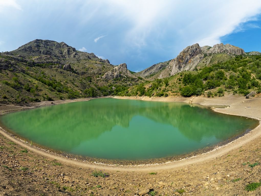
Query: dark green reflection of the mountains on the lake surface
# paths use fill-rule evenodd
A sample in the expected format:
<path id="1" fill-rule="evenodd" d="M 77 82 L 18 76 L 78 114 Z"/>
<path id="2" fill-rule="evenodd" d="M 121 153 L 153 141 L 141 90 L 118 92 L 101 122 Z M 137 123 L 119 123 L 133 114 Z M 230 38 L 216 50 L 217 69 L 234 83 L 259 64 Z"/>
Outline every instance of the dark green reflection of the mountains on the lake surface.
<path id="1" fill-rule="evenodd" d="M 1 119 L 7 127 L 29 140 L 56 149 L 59 149 L 56 142 L 63 142 L 66 147 L 61 150 L 70 151 L 81 142 L 110 131 L 115 125 L 128 127 L 130 120 L 137 115 L 177 127 L 194 141 L 212 136 L 225 140 L 224 132 L 234 135 L 235 130 L 245 130 L 254 124 L 250 119 L 218 114 L 185 103 L 116 99 L 37 108 L 11 113 Z M 246 124 L 248 126 L 244 126 Z"/>

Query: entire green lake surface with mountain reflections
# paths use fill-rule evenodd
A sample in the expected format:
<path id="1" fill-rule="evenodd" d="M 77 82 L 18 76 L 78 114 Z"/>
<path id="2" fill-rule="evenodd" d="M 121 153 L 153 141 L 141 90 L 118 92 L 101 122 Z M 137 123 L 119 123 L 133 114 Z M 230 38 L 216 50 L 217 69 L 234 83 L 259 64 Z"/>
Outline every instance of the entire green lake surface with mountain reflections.
<path id="1" fill-rule="evenodd" d="M 186 103 L 93 99 L 0 116 L 2 124 L 42 146 L 95 158 L 144 160 L 213 146 L 257 121 Z"/>

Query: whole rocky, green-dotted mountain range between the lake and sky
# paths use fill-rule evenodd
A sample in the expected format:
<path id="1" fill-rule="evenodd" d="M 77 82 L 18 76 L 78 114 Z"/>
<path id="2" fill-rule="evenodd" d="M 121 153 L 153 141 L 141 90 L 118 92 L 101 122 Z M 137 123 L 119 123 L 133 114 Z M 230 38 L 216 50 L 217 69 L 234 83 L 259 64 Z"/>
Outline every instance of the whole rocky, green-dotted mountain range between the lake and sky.
<path id="1" fill-rule="evenodd" d="M 261 55 L 229 44 L 193 44 L 133 73 L 66 43 L 36 39 L 0 53 L 0 103 L 94 96 L 222 96 L 261 92 Z"/>

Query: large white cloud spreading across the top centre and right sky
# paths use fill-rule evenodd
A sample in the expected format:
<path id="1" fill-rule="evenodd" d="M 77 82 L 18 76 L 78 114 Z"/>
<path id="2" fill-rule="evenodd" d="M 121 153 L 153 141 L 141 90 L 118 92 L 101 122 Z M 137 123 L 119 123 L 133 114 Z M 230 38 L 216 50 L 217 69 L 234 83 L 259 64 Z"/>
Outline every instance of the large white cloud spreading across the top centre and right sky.
<path id="1" fill-rule="evenodd" d="M 146 47 L 157 39 L 169 37 L 175 47 L 198 42 L 200 45 L 220 43 L 220 38 L 237 30 L 240 24 L 260 13 L 260 0 L 100 0 L 114 18 L 129 23 L 125 42 L 132 47 Z M 153 36 L 153 40 L 151 39 Z M 99 38 L 96 38 L 97 42 Z"/>

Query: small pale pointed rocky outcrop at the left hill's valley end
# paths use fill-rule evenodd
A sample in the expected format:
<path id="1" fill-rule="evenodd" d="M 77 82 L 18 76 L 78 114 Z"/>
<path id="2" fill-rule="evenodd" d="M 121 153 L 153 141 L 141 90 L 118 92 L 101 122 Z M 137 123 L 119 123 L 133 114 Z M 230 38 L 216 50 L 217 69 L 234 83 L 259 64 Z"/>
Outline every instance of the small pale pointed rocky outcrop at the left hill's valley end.
<path id="1" fill-rule="evenodd" d="M 122 63 L 118 66 L 115 66 L 111 71 L 106 72 L 103 75 L 103 79 L 111 80 L 114 78 L 136 78 L 128 69 L 126 63 Z"/>

